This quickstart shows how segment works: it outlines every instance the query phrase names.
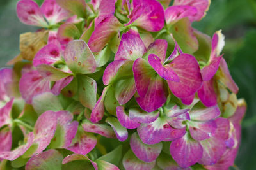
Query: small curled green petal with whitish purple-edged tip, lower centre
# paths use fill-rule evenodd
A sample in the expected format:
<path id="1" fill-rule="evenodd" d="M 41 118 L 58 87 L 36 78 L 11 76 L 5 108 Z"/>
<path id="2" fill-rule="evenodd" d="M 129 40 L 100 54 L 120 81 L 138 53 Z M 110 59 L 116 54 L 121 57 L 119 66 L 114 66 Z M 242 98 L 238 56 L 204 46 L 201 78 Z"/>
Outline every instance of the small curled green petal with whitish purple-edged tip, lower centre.
<path id="1" fill-rule="evenodd" d="M 125 127 L 123 127 L 117 118 L 108 117 L 106 122 L 111 125 L 113 130 L 115 131 L 116 137 L 119 141 L 125 141 L 128 138 L 128 131 Z"/>

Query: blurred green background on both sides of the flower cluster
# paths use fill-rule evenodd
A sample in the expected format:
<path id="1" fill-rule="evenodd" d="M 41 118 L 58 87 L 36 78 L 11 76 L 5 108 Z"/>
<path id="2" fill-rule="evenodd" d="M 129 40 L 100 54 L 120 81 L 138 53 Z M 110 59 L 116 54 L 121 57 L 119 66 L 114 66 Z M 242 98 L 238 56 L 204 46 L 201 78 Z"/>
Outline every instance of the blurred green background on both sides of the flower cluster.
<path id="1" fill-rule="evenodd" d="M 0 0 L 0 67 L 19 54 L 19 34 L 36 30 L 19 22 L 17 1 Z M 236 166 L 256 169 L 256 0 L 212 0 L 206 17 L 193 27 L 210 36 L 222 29 L 226 36 L 224 57 L 239 86 L 238 97 L 248 104 Z"/>

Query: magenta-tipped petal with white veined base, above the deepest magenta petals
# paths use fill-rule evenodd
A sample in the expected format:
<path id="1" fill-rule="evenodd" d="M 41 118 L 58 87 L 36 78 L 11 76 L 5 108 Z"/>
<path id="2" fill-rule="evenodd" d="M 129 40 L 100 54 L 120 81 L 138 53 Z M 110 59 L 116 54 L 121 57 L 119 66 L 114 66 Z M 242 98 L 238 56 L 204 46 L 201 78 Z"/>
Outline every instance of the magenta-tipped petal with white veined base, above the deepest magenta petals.
<path id="1" fill-rule="evenodd" d="M 130 29 L 122 35 L 115 60 L 136 60 L 146 52 L 146 46 L 137 31 Z"/>

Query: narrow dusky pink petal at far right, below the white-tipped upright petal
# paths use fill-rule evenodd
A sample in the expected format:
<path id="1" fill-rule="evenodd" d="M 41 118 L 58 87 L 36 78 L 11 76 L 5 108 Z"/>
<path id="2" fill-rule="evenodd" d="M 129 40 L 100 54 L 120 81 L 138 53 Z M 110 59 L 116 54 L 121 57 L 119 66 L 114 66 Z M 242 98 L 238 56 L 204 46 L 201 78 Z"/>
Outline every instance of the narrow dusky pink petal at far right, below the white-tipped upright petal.
<path id="1" fill-rule="evenodd" d="M 239 89 L 235 81 L 232 79 L 228 70 L 227 62 L 225 61 L 225 59 L 223 59 L 223 57 L 221 57 L 221 60 L 220 60 L 220 69 L 221 69 L 221 72 L 223 73 L 223 78 L 221 79 L 221 81 L 223 81 L 223 83 L 227 85 L 228 89 L 230 89 L 232 92 L 237 94 Z"/>

